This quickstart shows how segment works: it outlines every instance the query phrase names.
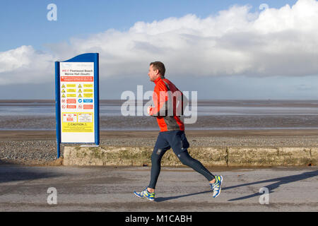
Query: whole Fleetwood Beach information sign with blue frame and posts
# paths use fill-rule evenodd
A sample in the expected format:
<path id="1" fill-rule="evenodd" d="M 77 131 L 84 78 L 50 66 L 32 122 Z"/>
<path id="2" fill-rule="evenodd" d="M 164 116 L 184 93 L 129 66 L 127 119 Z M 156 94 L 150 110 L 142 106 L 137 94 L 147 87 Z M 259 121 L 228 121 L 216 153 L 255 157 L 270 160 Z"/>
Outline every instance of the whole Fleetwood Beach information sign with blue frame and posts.
<path id="1" fill-rule="evenodd" d="M 61 143 L 100 144 L 98 53 L 55 62 L 57 158 Z"/>

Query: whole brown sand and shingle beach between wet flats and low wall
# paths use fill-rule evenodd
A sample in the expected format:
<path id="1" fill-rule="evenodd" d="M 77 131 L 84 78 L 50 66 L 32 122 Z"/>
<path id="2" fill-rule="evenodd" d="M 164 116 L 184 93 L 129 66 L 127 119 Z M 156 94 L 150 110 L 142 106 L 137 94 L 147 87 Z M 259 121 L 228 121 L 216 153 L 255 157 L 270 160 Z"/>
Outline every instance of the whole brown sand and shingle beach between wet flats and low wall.
<path id="1" fill-rule="evenodd" d="M 158 132 L 100 131 L 100 145 L 153 147 Z M 186 135 L 190 148 L 318 147 L 316 129 L 188 130 Z M 0 131 L 0 164 L 54 165 L 56 158 L 55 131 Z"/>

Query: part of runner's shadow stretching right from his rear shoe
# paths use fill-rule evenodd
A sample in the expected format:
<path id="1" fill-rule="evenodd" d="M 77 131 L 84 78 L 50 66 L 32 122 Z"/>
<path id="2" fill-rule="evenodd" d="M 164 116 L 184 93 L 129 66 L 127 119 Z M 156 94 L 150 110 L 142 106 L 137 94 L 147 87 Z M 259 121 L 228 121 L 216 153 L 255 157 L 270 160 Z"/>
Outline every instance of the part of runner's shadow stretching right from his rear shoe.
<path id="1" fill-rule="evenodd" d="M 235 185 L 235 186 L 229 186 L 224 188 L 223 190 L 226 189 L 234 189 L 240 186 L 249 186 L 249 185 L 253 185 L 253 184 L 261 184 L 261 183 L 267 183 L 267 182 L 275 182 L 273 184 L 269 184 L 266 186 L 267 189 L 269 189 L 269 193 L 273 193 L 274 189 L 277 189 L 281 184 L 288 184 L 288 183 L 292 183 L 292 182 L 298 182 L 302 179 L 307 179 L 310 177 L 316 177 L 318 176 L 318 170 L 316 171 L 312 171 L 312 172 L 303 172 L 302 174 L 296 174 L 296 175 L 291 175 L 291 176 L 287 176 L 287 177 L 278 177 L 275 179 L 266 179 L 264 181 L 260 181 L 260 182 L 252 182 L 252 183 L 247 183 L 247 184 L 240 184 L 240 185 Z M 262 193 L 254 193 L 254 194 L 250 194 L 248 196 L 242 196 L 240 198 L 232 198 L 229 199 L 228 201 L 237 201 L 237 200 L 242 200 L 242 199 L 246 199 L 246 198 L 252 198 L 255 196 L 261 196 Z"/>

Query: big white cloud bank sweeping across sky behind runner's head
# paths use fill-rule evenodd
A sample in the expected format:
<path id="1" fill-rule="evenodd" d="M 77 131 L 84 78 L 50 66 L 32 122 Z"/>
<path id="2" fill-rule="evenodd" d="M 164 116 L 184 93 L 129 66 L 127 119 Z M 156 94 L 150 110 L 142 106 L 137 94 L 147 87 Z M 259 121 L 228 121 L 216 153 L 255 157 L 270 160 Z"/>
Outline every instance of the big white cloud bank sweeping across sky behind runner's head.
<path id="1" fill-rule="evenodd" d="M 318 1 L 251 9 L 232 6 L 207 18 L 189 14 L 139 21 L 126 32 L 107 30 L 72 38 L 69 44 L 51 44 L 52 54 L 24 46 L 0 52 L 0 83 L 45 81 L 54 73 L 47 71 L 54 70 L 54 60 L 84 52 L 100 53 L 101 77 L 146 76 L 149 62 L 155 60 L 166 64 L 167 76 L 318 74 Z M 7 78 L 12 75 L 12 80 Z"/>

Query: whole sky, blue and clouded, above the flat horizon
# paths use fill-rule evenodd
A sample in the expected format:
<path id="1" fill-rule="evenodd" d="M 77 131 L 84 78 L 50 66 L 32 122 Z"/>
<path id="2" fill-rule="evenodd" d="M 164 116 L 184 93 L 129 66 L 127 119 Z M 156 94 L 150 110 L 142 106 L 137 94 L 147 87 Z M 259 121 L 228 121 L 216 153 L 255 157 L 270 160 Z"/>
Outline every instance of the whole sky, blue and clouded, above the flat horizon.
<path id="1" fill-rule="evenodd" d="M 315 0 L 0 1 L 0 99 L 54 99 L 54 61 L 87 52 L 100 99 L 153 90 L 151 61 L 199 99 L 317 99 L 317 25 Z"/>

